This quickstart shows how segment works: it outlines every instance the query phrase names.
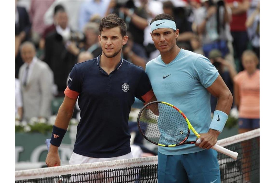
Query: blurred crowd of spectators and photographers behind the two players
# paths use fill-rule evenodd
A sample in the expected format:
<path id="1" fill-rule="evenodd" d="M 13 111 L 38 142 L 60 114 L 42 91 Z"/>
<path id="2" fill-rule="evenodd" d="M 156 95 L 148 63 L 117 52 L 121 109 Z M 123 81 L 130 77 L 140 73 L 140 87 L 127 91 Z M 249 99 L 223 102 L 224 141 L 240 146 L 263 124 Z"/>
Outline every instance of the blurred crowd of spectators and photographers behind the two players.
<path id="1" fill-rule="evenodd" d="M 259 0 L 18 0 L 15 2 L 15 112 L 19 120 L 48 119 L 51 102 L 64 97 L 68 75 L 74 64 L 98 57 L 99 22 L 116 13 L 127 24 L 129 40 L 123 58 L 145 69 L 159 55 L 149 22 L 160 13 L 175 18 L 180 30 L 180 48 L 209 58 L 234 96 L 232 108 L 241 109 L 243 93 L 250 88 L 258 100 L 259 75 L 253 80 L 245 72 L 259 69 Z M 244 54 L 245 53 L 245 54 Z M 252 68 L 252 71 L 249 70 Z M 237 100 L 235 100 L 237 98 Z M 244 99 L 244 100 L 251 100 Z M 211 96 L 211 111 L 216 107 Z M 258 105 L 257 102 L 254 105 Z M 254 110 L 254 111 L 253 111 Z M 257 113 L 258 114 L 258 113 Z M 253 118 L 259 118 L 254 115 Z"/>

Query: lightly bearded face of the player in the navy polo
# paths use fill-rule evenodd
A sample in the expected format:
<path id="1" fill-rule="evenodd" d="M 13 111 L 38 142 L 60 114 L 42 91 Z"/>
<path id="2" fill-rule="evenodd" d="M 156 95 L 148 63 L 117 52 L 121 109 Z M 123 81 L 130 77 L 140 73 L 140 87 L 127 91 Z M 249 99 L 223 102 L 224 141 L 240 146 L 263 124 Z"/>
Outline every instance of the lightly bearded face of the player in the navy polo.
<path id="1" fill-rule="evenodd" d="M 98 36 L 102 52 L 107 58 L 115 57 L 127 43 L 128 36 L 122 37 L 119 27 L 104 28 Z"/>

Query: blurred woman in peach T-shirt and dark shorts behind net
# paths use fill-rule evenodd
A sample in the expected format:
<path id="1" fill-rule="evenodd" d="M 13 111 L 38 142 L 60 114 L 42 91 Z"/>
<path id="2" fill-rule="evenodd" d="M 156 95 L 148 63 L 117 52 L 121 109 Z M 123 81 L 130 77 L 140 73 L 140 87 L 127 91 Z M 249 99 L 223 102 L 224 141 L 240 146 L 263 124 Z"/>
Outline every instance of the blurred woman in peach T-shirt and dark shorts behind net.
<path id="1" fill-rule="evenodd" d="M 242 55 L 244 71 L 234 77 L 234 99 L 239 110 L 239 133 L 260 128 L 260 70 L 259 59 L 252 50 Z M 250 181 L 251 142 L 243 142 L 242 171 L 244 182 Z M 259 145 L 259 142 L 258 142 Z"/>

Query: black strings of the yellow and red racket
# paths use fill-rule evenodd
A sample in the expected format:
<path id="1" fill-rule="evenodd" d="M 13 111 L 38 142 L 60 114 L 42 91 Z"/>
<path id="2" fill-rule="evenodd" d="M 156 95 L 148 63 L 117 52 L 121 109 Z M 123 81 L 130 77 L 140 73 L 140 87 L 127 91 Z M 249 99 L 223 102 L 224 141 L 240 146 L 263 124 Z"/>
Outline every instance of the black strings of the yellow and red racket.
<path id="1" fill-rule="evenodd" d="M 139 123 L 142 133 L 150 141 L 174 145 L 188 135 L 188 125 L 184 117 L 174 108 L 163 103 L 152 103 L 141 112 Z"/>

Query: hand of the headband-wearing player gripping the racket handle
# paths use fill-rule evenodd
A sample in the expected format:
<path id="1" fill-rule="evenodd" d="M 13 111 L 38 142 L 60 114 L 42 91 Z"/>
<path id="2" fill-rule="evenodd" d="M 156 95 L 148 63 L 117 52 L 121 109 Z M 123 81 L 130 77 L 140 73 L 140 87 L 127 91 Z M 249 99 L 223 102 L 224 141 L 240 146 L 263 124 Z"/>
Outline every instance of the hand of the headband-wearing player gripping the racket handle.
<path id="1" fill-rule="evenodd" d="M 200 144 L 195 144 L 196 146 L 203 149 L 210 149 L 217 143 L 217 139 L 219 136 L 219 131 L 214 129 L 209 129 L 207 133 L 200 134 Z"/>

